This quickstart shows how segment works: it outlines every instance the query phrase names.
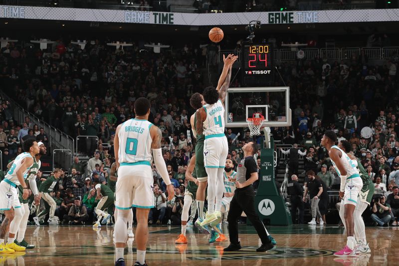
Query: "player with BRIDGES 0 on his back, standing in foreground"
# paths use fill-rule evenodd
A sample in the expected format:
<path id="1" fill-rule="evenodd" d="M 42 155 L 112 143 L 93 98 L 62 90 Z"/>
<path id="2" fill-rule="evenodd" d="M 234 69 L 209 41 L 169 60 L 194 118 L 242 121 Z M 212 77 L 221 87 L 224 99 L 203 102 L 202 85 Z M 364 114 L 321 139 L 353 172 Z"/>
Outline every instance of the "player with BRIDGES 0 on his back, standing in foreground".
<path id="1" fill-rule="evenodd" d="M 118 170 L 115 207 L 118 219 L 115 224 L 115 266 L 125 266 L 123 250 L 127 240 L 127 222 L 132 207 L 137 215 L 137 262 L 144 266 L 148 240 L 148 214 L 154 207 L 151 150 L 154 163 L 167 185 L 168 200 L 175 196 L 162 155 L 162 132 L 148 121 L 151 104 L 147 98 L 138 98 L 134 103 L 136 117 L 119 125 L 114 139 L 115 161 Z"/>

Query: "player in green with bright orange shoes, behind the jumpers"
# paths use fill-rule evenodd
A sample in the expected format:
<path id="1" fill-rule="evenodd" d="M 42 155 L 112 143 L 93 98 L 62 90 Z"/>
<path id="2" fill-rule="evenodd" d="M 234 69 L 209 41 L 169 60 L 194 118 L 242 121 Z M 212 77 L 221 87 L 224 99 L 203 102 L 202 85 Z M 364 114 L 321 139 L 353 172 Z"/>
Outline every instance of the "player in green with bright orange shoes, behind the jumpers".
<path id="1" fill-rule="evenodd" d="M 184 193 L 184 205 L 182 212 L 182 234 L 180 234 L 179 238 L 175 241 L 175 244 L 187 244 L 186 238 L 186 229 L 187 222 L 189 221 L 189 211 L 191 204 L 196 200 L 196 194 L 198 190 L 198 184 L 200 183 L 197 179 L 196 173 L 196 155 L 191 157 L 191 161 L 186 170 L 186 179 L 189 180 L 189 184 L 187 185 L 186 192 Z"/>

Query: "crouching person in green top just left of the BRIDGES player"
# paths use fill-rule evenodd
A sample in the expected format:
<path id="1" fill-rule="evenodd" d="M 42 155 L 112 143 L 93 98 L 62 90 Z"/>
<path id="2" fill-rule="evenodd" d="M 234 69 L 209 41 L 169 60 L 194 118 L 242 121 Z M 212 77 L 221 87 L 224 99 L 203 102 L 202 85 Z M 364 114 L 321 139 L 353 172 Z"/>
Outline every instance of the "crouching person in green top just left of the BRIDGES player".
<path id="1" fill-rule="evenodd" d="M 93 227 L 101 227 L 100 225 L 101 218 L 104 218 L 101 221 L 102 225 L 106 225 L 108 220 L 111 218 L 111 215 L 104 211 L 110 208 L 114 204 L 115 193 L 107 185 L 100 184 L 98 180 L 94 180 L 93 184 L 94 188 L 97 191 L 96 200 L 101 199 L 98 202 L 97 207 L 94 211 L 97 214 L 97 222 L 93 225 Z"/>

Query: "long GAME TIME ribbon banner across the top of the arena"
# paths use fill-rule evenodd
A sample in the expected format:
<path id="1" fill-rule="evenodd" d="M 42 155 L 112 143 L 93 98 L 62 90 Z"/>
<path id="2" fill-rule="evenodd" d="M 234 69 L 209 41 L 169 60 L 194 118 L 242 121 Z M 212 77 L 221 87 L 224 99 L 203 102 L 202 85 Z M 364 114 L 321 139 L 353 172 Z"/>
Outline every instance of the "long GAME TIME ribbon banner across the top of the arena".
<path id="1" fill-rule="evenodd" d="M 83 9 L 0 5 L 0 18 L 72 20 L 174 25 L 245 25 L 399 21 L 399 9 L 319 10 L 242 13 L 169 13 L 112 9 Z"/>

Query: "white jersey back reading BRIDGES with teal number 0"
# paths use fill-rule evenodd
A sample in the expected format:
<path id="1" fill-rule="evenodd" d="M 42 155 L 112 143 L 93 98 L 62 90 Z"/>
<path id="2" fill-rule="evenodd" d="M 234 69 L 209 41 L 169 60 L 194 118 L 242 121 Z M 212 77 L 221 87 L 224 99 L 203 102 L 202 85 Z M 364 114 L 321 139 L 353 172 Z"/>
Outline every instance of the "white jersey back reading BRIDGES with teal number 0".
<path id="1" fill-rule="evenodd" d="M 151 122 L 143 119 L 130 119 L 121 125 L 118 133 L 118 155 L 121 165 L 151 165 L 150 128 L 152 125 Z"/>

